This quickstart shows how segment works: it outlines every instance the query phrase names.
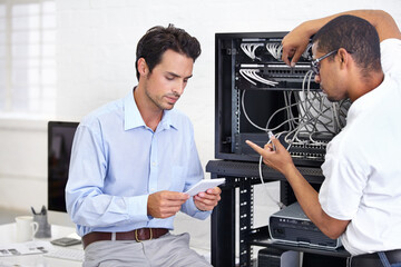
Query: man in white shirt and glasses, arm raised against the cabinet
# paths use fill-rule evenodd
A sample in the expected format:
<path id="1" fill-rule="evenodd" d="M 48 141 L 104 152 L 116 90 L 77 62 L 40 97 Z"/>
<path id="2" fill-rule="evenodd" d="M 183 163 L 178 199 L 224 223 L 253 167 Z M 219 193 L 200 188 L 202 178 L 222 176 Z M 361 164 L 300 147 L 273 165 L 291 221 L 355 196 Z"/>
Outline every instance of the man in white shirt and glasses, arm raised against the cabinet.
<path id="1" fill-rule="evenodd" d="M 352 267 L 401 266 L 400 30 L 380 10 L 306 21 L 283 39 L 283 60 L 295 66 L 310 38 L 315 81 L 329 100 L 352 101 L 346 127 L 327 146 L 320 192 L 277 139 L 276 150 L 247 144 L 286 177 L 306 216 L 341 238 Z"/>

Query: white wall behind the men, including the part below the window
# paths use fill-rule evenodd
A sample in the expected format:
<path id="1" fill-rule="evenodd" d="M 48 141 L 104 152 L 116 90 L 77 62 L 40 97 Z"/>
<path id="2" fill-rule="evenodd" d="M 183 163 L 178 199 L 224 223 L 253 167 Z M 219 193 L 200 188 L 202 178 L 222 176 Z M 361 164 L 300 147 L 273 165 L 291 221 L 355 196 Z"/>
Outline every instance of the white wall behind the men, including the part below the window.
<path id="1" fill-rule="evenodd" d="M 176 108 L 186 112 L 194 122 L 204 166 L 214 159 L 215 32 L 287 31 L 307 19 L 363 8 L 383 9 L 401 26 L 399 0 L 56 2 L 58 119 L 79 120 L 100 105 L 129 93 L 137 82 L 134 66 L 136 43 L 150 27 L 172 22 L 198 38 L 203 53 L 195 62 L 194 77 Z M 30 206 L 39 208 L 46 204 L 46 120 L 0 118 L 0 207 L 28 212 Z M 268 201 L 263 201 L 268 205 Z M 263 205 L 260 208 L 263 209 Z M 261 221 L 266 218 L 262 217 Z M 177 227 L 187 230 L 186 220 L 180 217 Z M 207 239 L 207 245 L 208 224 L 190 221 L 193 228 L 194 224 L 204 231 L 194 234 L 195 241 L 203 237 L 200 243 L 205 244 Z"/>

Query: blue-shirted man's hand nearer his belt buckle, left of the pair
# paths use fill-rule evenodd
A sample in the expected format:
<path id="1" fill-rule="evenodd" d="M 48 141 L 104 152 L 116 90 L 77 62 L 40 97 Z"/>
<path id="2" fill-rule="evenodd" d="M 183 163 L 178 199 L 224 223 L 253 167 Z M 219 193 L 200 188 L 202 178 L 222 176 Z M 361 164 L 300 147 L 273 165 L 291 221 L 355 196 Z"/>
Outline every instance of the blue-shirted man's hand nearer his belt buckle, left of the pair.
<path id="1" fill-rule="evenodd" d="M 148 197 L 147 212 L 154 218 L 168 218 L 176 215 L 189 196 L 184 192 L 157 191 Z"/>

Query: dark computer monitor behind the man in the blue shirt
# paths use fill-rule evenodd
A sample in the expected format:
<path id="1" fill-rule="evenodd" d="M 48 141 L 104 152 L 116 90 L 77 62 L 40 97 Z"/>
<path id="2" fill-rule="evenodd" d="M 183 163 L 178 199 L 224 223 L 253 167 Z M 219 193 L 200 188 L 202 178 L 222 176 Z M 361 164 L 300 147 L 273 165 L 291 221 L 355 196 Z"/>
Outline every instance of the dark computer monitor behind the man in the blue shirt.
<path id="1" fill-rule="evenodd" d="M 48 122 L 48 209 L 66 212 L 65 188 L 78 122 Z"/>

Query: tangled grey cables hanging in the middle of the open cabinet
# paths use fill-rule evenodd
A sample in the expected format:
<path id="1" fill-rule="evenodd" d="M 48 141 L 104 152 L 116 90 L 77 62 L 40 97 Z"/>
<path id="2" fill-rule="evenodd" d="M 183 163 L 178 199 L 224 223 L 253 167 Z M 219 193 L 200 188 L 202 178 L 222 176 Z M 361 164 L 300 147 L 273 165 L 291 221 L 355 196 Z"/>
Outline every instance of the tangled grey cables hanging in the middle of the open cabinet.
<path id="1" fill-rule="evenodd" d="M 255 70 L 254 70 L 255 71 Z M 248 71 L 243 71 L 248 75 Z M 276 136 L 285 135 L 284 141 L 288 144 L 287 150 L 293 144 L 313 144 L 313 145 L 323 145 L 320 141 L 315 140 L 316 135 L 325 135 L 334 137 L 340 130 L 345 126 L 345 116 L 349 108 L 350 100 L 342 100 L 340 102 L 330 102 L 325 95 L 320 91 L 311 91 L 310 83 L 313 72 L 309 71 L 305 75 L 302 91 L 283 91 L 283 97 L 285 106 L 274 111 L 268 118 L 266 126 L 261 127 L 254 123 L 245 109 L 245 95 L 246 90 L 242 95 L 242 110 L 245 118 L 248 122 L 255 128 L 265 131 L 276 131 L 283 126 L 287 125 L 287 130 L 276 132 Z M 245 77 L 244 77 L 245 78 Z M 306 83 L 306 89 L 305 89 Z M 295 102 L 293 102 L 295 99 Z M 297 108 L 297 115 L 293 113 L 293 107 Z M 286 112 L 286 120 L 282 121 L 277 126 L 272 126 L 271 121 L 274 116 L 280 112 Z M 303 138 L 300 138 L 300 135 L 303 135 Z M 305 140 L 304 137 L 307 137 Z"/>

